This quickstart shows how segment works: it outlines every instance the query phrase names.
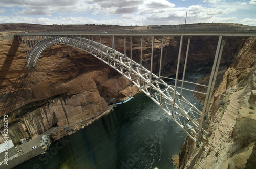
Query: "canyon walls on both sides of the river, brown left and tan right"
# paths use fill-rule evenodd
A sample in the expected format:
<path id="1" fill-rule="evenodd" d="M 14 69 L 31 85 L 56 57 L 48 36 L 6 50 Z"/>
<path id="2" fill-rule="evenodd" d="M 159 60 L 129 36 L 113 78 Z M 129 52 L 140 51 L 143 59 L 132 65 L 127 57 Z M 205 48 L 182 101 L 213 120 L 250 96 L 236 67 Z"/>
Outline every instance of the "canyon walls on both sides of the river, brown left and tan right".
<path id="1" fill-rule="evenodd" d="M 6 29 L 12 25 L 3 26 Z M 26 29 L 29 26 L 26 25 Z M 34 30 L 36 26 L 32 26 L 31 29 Z M 7 63 L 15 33 L 0 33 L 0 65 Z M 164 38 L 163 76 L 176 72 L 179 38 Z M 143 37 L 142 65 L 148 69 L 151 62 L 151 39 L 149 36 Z M 97 41 L 97 38 L 94 40 Z M 135 61 L 140 60 L 140 41 L 139 37 L 132 39 Z M 186 41 L 185 39 L 182 46 L 181 68 L 184 67 Z M 158 72 L 161 38 L 156 38 L 154 42 L 153 70 Z M 211 65 L 217 42 L 218 37 L 192 37 L 187 68 Z M 102 43 L 111 46 L 110 38 L 104 38 Z M 124 53 L 124 38 L 117 38 L 115 44 L 116 50 Z M 126 53 L 129 56 L 129 37 L 126 38 L 126 44 Z M 252 109 L 255 107 L 256 98 L 255 45 L 255 38 L 226 38 L 221 65 L 227 69 L 222 70 L 223 77 L 219 79 L 219 87 L 212 98 L 204 126 L 209 135 L 203 136 L 199 145 L 189 138 L 186 139 L 179 157 L 180 168 L 232 168 L 240 165 L 236 163 L 237 159 L 241 159 L 245 165 L 255 140 L 250 138 L 250 143 L 239 146 L 241 139 L 236 137 L 239 130 L 234 129 L 242 121 L 250 121 L 252 126 L 256 126 L 255 110 Z M 139 92 L 137 87 L 114 69 L 71 46 L 51 46 L 41 54 L 36 69 L 32 71 L 24 68 L 25 63 L 24 49 L 20 45 L 9 64 L 10 68 L 1 72 L 0 79 L 0 114 L 1 117 L 8 115 L 9 137 L 14 144 L 19 144 L 19 140 L 23 138 L 36 137 L 52 126 L 58 127 L 51 134 L 53 140 L 74 133 L 104 113 L 111 113 L 108 104 L 113 100 L 121 101 Z M 2 67 L 3 69 L 5 68 Z M 1 133 L 3 119 L 0 119 Z M 4 137 L 1 135 L 0 143 L 3 142 Z"/>

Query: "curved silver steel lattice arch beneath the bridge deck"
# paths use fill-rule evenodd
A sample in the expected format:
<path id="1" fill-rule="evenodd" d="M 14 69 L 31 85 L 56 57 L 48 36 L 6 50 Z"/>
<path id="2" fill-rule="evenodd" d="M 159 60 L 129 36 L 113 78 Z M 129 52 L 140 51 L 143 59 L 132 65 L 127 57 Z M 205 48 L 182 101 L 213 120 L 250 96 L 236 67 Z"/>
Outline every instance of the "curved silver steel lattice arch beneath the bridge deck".
<path id="1" fill-rule="evenodd" d="M 197 142 L 202 129 L 199 122 L 202 112 L 152 71 L 115 49 L 103 45 L 101 38 L 99 39 L 100 43 L 81 37 L 47 37 L 37 42 L 30 50 L 27 66 L 28 68 L 36 66 L 41 53 L 55 44 L 65 44 L 86 51 L 132 81 L 160 106 L 191 139 Z M 173 99 L 174 93 L 179 97 Z"/>

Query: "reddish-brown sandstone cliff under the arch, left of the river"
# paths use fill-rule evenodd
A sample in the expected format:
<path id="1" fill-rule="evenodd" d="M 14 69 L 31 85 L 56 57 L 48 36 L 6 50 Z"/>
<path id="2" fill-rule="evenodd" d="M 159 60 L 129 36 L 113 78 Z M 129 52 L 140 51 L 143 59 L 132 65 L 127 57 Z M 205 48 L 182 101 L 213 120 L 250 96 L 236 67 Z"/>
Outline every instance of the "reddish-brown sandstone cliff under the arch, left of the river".
<path id="1" fill-rule="evenodd" d="M 2 44 L 7 46 L 1 51 L 4 56 L 11 44 Z M 4 61 L 5 57 L 1 60 L 2 65 Z M 42 53 L 36 70 L 31 72 L 23 69 L 25 62 L 23 47 L 20 46 L 6 71 L 8 80 L 2 80 L 1 112 L 9 110 L 9 136 L 14 144 L 22 138 L 38 136 L 53 125 L 67 127 L 82 123 L 78 125 L 82 128 L 108 110 L 107 102 L 112 98 L 124 99 L 138 92 L 137 87 L 108 65 L 70 46 L 51 46 Z M 17 77 L 22 78 L 17 82 Z M 18 85 L 12 89 L 14 83 Z M 8 103 L 5 104 L 9 91 Z M 77 130 L 77 127 L 72 129 L 74 126 L 70 128 L 70 131 Z M 55 136 L 55 139 L 65 134 Z M 0 136 L 0 142 L 3 141 L 3 136 Z"/>

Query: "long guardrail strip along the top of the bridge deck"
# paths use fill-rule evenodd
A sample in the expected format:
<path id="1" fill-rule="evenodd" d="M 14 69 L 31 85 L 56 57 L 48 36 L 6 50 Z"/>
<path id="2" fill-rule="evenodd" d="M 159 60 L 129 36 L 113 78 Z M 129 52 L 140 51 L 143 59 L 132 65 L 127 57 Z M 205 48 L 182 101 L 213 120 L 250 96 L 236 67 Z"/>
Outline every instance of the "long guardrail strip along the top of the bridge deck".
<path id="1" fill-rule="evenodd" d="M 174 35 L 174 34 L 248 34 L 256 36 L 256 27 L 234 27 L 234 26 L 205 26 L 205 27 L 142 27 L 142 29 L 110 29 L 110 30 L 82 30 L 82 31 L 62 31 L 50 32 L 25 32 L 15 34 L 25 35 Z"/>

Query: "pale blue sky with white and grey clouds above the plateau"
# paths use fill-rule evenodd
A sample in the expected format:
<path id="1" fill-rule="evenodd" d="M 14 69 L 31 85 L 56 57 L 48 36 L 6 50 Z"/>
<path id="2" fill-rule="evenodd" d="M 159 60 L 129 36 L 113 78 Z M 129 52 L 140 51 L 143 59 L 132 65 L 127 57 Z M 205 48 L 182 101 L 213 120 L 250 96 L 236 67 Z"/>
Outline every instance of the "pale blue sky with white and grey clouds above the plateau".
<path id="1" fill-rule="evenodd" d="M 188 11 L 190 10 L 190 11 Z M 256 26 L 256 0 L 1 0 L 0 23 Z"/>

